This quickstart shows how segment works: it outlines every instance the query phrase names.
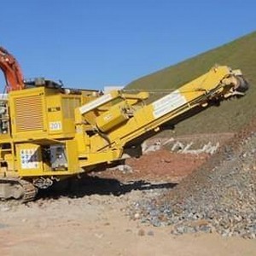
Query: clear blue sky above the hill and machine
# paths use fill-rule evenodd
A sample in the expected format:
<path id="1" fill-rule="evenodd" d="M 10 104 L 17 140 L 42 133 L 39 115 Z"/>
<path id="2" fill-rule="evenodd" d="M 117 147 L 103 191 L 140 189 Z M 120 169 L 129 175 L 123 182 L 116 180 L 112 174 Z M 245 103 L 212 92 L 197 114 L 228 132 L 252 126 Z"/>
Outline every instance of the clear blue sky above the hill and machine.
<path id="1" fill-rule="evenodd" d="M 8 0 L 0 44 L 26 78 L 102 89 L 253 32 L 255 10 L 254 0 Z"/>

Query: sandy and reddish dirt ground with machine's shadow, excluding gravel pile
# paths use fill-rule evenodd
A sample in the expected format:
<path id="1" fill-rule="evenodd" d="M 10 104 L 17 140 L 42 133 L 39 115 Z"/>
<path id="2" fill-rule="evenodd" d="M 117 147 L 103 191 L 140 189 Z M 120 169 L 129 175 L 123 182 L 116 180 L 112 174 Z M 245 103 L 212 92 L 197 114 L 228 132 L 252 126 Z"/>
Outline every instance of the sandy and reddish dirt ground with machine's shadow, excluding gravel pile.
<path id="1" fill-rule="evenodd" d="M 160 150 L 75 183 L 72 193 L 26 205 L 0 202 L 0 255 L 255 255 L 256 243 L 217 234 L 173 236 L 131 217 L 127 207 L 160 195 L 209 158 Z M 78 188 L 79 186 L 79 188 Z M 82 189 L 81 189 L 82 188 Z"/>

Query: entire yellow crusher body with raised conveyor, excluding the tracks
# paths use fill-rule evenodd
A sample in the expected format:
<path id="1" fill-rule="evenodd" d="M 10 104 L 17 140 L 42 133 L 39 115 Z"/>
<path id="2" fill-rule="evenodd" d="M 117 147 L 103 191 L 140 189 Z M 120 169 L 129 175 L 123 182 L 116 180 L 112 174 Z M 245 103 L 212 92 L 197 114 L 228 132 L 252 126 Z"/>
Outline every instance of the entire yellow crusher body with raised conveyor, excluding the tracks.
<path id="1" fill-rule="evenodd" d="M 0 176 L 69 176 L 119 160 L 127 143 L 212 99 L 231 96 L 232 79 L 236 74 L 229 67 L 214 67 L 150 104 L 148 92 L 99 96 L 43 86 L 12 91 L 10 128 L 0 134 Z"/>

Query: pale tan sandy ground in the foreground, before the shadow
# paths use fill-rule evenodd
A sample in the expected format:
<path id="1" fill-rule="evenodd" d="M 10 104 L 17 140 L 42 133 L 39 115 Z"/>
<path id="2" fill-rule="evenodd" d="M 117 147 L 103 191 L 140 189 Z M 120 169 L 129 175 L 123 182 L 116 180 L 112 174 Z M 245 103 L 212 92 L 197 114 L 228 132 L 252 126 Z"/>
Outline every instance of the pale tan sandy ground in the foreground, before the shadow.
<path id="1" fill-rule="evenodd" d="M 172 236 L 128 218 L 125 207 L 154 189 L 125 195 L 62 196 L 0 212 L 5 255 L 255 255 L 256 243 L 216 234 Z"/>

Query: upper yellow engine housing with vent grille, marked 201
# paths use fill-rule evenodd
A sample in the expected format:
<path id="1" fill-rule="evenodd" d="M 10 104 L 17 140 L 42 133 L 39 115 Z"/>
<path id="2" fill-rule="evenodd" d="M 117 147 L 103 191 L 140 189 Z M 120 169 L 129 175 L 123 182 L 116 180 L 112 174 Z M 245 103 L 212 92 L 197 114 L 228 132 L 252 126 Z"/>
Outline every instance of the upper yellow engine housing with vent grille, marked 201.
<path id="1" fill-rule="evenodd" d="M 12 137 L 17 140 L 73 137 L 74 109 L 81 102 L 80 95 L 65 95 L 44 87 L 11 92 Z"/>

